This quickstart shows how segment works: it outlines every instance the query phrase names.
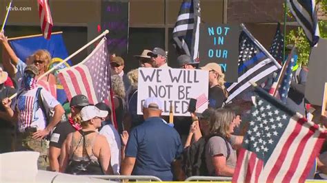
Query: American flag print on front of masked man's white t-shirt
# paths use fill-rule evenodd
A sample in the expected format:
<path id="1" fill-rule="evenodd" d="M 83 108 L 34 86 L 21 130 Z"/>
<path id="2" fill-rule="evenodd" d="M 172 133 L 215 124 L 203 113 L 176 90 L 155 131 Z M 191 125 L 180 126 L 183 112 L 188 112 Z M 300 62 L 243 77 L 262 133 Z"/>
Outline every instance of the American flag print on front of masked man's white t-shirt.
<path id="1" fill-rule="evenodd" d="M 34 96 L 19 96 L 17 99 L 17 107 L 19 109 L 19 120 L 21 121 L 20 129 L 30 127 L 33 117 Z"/>

